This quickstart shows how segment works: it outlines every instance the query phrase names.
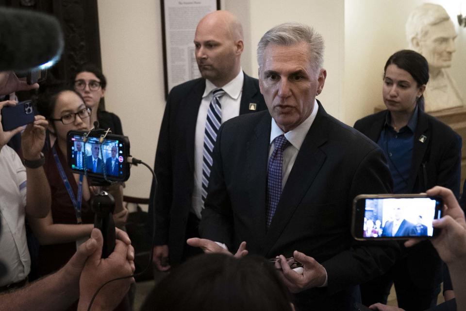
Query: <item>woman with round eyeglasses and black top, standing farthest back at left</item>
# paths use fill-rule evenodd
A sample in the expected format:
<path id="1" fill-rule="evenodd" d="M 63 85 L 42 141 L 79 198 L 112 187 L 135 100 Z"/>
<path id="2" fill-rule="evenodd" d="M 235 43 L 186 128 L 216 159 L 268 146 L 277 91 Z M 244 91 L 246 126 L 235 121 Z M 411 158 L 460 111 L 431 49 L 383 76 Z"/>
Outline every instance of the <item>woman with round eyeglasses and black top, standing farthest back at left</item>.
<path id="1" fill-rule="evenodd" d="M 99 107 L 107 86 L 107 80 L 102 71 L 93 64 L 84 64 L 76 72 L 78 73 L 74 77 L 73 87 L 75 91 L 83 96 L 86 106 L 92 109 L 91 128 L 94 126 L 95 121 L 99 121 L 99 128 L 110 128 L 112 134 L 123 135 L 120 118 L 116 114 L 102 110 Z"/>

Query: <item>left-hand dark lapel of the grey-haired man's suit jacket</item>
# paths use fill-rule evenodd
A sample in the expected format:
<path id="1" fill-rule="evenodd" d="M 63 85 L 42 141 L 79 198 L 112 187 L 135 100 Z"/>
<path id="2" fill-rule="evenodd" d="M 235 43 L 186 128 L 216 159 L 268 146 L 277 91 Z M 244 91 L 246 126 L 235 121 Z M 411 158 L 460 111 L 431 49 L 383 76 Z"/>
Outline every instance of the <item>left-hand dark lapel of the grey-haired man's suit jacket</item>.
<path id="1" fill-rule="evenodd" d="M 254 134 L 246 143 L 246 163 L 248 163 L 248 199 L 251 221 L 255 224 L 255 236 L 263 241 L 266 236 L 266 189 L 267 159 L 272 118 L 264 112 L 264 117 L 256 126 Z"/>

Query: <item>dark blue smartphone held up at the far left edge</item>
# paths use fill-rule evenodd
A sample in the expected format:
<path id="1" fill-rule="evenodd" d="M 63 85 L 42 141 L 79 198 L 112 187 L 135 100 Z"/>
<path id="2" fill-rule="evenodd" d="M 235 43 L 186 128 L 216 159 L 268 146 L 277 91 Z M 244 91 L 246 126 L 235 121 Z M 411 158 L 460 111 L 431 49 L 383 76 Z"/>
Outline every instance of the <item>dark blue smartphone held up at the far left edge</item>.
<path id="1" fill-rule="evenodd" d="M 4 106 L 1 109 L 1 126 L 3 131 L 11 131 L 32 122 L 34 122 L 32 101 L 19 102 L 15 106 Z"/>

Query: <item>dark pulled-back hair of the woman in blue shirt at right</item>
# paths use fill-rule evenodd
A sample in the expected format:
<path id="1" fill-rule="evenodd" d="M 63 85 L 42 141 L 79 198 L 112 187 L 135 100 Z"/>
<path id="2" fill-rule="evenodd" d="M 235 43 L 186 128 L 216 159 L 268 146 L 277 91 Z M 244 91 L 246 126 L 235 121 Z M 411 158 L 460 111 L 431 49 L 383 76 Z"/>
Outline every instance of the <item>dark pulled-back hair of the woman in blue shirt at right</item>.
<path id="1" fill-rule="evenodd" d="M 418 52 L 401 50 L 390 56 L 383 68 L 383 77 L 385 77 L 387 67 L 392 64 L 411 74 L 418 87 L 429 82 L 429 64 L 427 59 Z M 424 110 L 424 95 L 417 99 L 417 105 Z"/>

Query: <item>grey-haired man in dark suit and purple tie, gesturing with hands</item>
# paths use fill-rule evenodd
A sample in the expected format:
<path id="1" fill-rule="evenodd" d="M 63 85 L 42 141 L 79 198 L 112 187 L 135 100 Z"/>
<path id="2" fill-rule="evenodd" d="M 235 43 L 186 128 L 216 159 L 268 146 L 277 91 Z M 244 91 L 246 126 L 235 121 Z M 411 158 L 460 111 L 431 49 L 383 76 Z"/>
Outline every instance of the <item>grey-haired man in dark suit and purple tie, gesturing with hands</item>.
<path id="1" fill-rule="evenodd" d="M 391 190 L 385 158 L 316 101 L 327 75 L 321 35 L 282 24 L 262 37 L 257 55 L 268 111 L 220 128 L 203 239 L 188 243 L 205 252 L 280 255 L 298 310 L 353 310 L 357 285 L 398 254 L 396 243 L 367 245 L 350 234 L 354 197 Z M 289 268 L 290 256 L 303 264 L 302 274 Z"/>

